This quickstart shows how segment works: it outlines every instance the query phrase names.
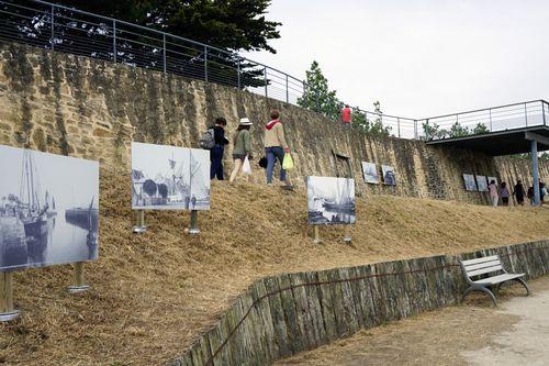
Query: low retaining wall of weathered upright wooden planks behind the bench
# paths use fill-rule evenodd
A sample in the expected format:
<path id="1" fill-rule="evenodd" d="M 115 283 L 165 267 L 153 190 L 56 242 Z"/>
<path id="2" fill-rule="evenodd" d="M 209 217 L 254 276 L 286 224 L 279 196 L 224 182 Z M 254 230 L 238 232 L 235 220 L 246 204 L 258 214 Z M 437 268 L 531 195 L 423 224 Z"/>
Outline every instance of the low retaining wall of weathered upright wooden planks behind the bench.
<path id="1" fill-rule="evenodd" d="M 498 254 L 512 273 L 549 273 L 549 241 L 462 255 Z M 360 329 L 456 304 L 466 288 L 457 256 L 287 274 L 253 284 L 172 365 L 269 365 Z M 491 302 L 486 296 L 486 302 Z"/>

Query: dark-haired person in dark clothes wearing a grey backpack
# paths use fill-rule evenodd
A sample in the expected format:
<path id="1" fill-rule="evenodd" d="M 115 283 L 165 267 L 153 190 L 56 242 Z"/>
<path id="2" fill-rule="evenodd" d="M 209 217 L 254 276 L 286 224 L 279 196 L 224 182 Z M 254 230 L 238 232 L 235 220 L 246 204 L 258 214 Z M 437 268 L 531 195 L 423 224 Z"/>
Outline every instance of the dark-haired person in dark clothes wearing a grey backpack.
<path id="1" fill-rule="evenodd" d="M 219 180 L 223 180 L 223 153 L 225 151 L 225 145 L 228 144 L 228 140 L 225 137 L 225 126 L 227 121 L 223 118 L 216 118 L 215 124 L 210 126 L 204 133 L 202 138 L 200 138 L 200 146 L 202 148 L 210 149 L 210 179 L 217 177 Z"/>

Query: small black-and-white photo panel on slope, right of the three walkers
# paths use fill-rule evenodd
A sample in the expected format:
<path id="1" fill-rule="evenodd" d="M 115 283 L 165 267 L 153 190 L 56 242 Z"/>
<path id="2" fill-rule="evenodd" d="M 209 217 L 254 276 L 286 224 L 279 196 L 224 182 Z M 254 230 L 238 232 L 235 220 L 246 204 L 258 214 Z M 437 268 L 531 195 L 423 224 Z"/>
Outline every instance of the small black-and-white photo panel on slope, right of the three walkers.
<path id="1" fill-rule="evenodd" d="M 355 179 L 307 177 L 309 224 L 354 224 Z"/>

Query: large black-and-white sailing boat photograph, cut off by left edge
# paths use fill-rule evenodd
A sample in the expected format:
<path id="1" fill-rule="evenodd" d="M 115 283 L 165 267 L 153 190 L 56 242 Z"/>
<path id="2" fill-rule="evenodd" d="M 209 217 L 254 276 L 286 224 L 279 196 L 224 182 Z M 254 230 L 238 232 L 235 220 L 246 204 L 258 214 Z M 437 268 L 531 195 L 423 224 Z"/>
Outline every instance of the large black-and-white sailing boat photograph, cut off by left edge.
<path id="1" fill-rule="evenodd" d="M 99 163 L 0 145 L 0 270 L 98 257 Z"/>

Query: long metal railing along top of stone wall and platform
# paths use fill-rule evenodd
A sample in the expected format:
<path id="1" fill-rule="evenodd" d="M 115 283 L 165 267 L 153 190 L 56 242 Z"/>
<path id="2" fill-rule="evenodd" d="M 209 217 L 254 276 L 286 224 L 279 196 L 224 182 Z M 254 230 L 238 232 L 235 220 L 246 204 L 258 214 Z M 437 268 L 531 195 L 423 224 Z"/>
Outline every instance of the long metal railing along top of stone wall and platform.
<path id="1" fill-rule="evenodd" d="M 42 0 L 0 0 L 0 38 L 229 86 L 292 104 L 309 88 L 303 80 L 234 52 Z M 549 104 L 537 100 L 423 120 L 359 108 L 354 112 L 396 137 L 445 138 L 456 122 L 470 133 L 480 131 L 479 124 L 486 131 L 545 124 Z M 436 136 L 425 136 L 427 122 L 439 126 Z"/>

